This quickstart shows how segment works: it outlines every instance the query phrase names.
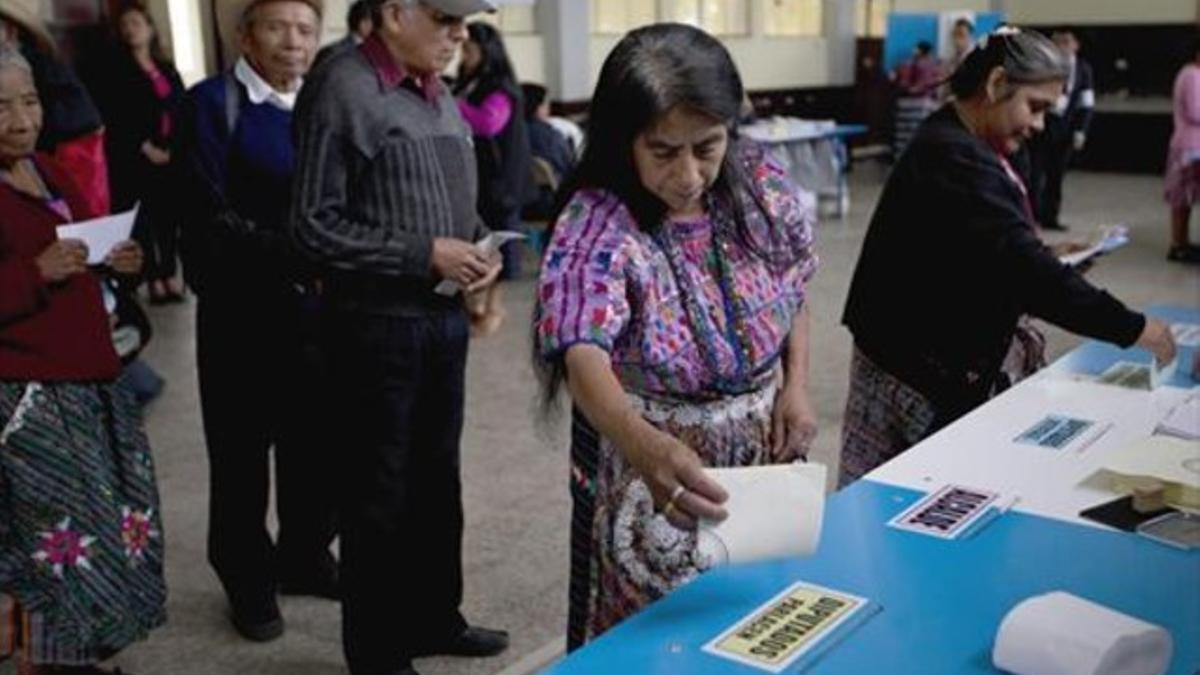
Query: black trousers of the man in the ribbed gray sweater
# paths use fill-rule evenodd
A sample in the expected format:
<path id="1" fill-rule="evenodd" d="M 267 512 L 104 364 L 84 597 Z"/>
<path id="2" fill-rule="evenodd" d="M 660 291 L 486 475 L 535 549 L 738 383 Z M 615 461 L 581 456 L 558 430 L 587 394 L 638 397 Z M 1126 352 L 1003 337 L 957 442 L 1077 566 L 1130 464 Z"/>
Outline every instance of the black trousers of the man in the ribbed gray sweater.
<path id="1" fill-rule="evenodd" d="M 468 322 L 330 310 L 338 392 L 342 641 L 354 675 L 407 665 L 466 628 L 462 436 Z"/>

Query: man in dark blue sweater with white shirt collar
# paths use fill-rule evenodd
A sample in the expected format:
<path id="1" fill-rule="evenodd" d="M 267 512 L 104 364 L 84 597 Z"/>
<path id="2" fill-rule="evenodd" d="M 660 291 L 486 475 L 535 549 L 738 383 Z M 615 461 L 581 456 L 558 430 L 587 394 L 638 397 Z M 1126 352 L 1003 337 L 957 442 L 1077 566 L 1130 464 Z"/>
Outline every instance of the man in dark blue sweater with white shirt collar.
<path id="1" fill-rule="evenodd" d="M 233 625 L 283 633 L 276 592 L 337 597 L 316 286 L 284 225 L 292 108 L 317 49 L 317 0 L 246 0 L 242 58 L 187 95 L 179 139 L 185 276 L 198 297 L 209 561 Z M 278 537 L 266 530 L 275 449 Z"/>

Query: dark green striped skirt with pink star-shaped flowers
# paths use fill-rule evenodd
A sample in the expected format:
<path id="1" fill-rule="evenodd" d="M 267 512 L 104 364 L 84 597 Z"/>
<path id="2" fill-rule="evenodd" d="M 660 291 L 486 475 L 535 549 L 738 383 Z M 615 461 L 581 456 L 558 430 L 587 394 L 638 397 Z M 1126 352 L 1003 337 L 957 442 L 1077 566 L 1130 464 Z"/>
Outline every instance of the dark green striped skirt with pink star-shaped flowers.
<path id="1" fill-rule="evenodd" d="M 154 465 L 128 387 L 0 382 L 8 646 L 34 664 L 110 657 L 166 620 L 162 565 Z"/>

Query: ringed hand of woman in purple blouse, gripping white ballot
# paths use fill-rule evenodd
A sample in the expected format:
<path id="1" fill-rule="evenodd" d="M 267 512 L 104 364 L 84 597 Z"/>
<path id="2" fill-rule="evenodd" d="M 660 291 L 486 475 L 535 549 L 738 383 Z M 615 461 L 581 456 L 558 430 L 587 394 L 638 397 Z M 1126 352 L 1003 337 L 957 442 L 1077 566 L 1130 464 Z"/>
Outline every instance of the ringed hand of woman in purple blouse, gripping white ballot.
<path id="1" fill-rule="evenodd" d="M 704 473 L 695 450 L 678 438 L 655 431 L 642 452 L 630 453 L 654 504 L 680 530 L 692 530 L 700 519 L 725 520 L 721 503 L 730 496 Z"/>

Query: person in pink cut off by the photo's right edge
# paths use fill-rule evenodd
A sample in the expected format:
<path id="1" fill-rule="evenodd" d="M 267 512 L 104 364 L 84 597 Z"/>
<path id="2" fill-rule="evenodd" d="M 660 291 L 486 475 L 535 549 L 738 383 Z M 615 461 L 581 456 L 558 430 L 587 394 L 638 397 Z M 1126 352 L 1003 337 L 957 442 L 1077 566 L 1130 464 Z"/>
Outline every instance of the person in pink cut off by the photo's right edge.
<path id="1" fill-rule="evenodd" d="M 1200 201 L 1200 36 L 1192 60 L 1175 78 L 1175 132 L 1166 153 L 1166 203 L 1171 207 L 1171 245 L 1166 259 L 1200 264 L 1200 246 L 1188 239 L 1192 207 Z"/>

